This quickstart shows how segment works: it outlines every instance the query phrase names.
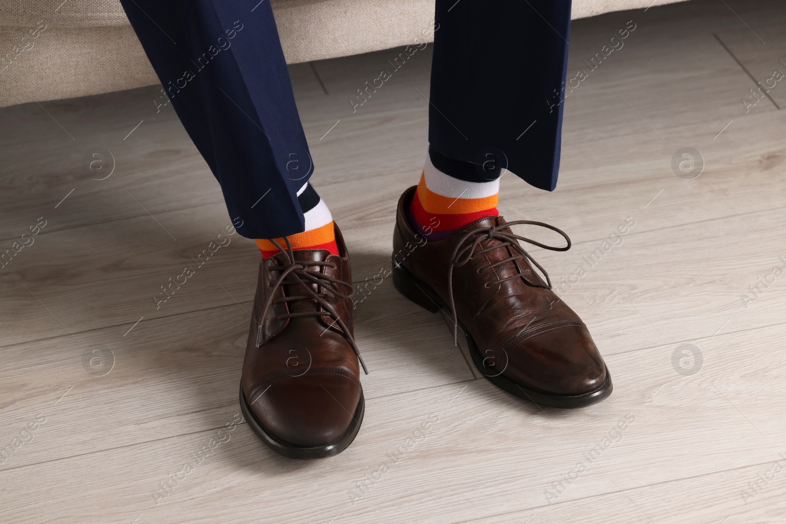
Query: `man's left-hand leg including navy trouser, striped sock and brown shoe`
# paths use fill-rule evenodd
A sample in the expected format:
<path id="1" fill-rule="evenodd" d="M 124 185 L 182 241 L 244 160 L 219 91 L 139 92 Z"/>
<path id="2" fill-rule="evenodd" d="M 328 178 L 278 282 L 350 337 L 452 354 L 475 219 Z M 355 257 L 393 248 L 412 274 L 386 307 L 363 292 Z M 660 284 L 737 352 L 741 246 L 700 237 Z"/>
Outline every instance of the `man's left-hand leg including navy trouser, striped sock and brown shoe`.
<path id="1" fill-rule="evenodd" d="M 364 406 L 349 259 L 308 184 L 314 167 L 270 2 L 121 2 L 238 233 L 263 252 L 244 416 L 282 455 L 340 453 Z"/>

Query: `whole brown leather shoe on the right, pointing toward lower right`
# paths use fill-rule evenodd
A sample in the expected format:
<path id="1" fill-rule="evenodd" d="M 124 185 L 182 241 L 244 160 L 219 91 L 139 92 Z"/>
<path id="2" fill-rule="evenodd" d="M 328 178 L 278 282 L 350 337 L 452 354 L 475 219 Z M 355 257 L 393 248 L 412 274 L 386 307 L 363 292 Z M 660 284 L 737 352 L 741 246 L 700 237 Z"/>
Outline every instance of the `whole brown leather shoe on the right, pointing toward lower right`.
<path id="1" fill-rule="evenodd" d="M 542 222 L 490 216 L 429 241 L 406 217 L 414 191 L 413 186 L 399 199 L 393 233 L 393 284 L 402 295 L 432 313 L 442 309 L 453 315 L 476 368 L 498 387 L 555 408 L 607 398 L 612 379 L 586 325 L 551 291 L 548 275 L 518 243 L 566 251 L 567 235 Z M 510 224 L 552 229 L 567 246 L 514 235 Z"/>

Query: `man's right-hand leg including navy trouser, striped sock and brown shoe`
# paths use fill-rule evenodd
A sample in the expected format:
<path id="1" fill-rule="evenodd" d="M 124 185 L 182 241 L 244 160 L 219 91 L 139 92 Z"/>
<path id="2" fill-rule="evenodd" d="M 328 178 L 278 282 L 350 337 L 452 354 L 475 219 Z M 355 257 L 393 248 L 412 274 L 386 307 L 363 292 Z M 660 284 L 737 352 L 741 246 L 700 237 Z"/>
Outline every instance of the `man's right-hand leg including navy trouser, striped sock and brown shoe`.
<path id="1" fill-rule="evenodd" d="M 491 382 L 561 408 L 607 398 L 611 378 L 586 325 L 518 241 L 565 251 L 570 240 L 540 222 L 505 222 L 497 200 L 503 168 L 541 189 L 556 184 L 554 94 L 570 15 L 570 2 L 436 0 L 430 146 L 393 237 L 396 288 L 427 310 L 450 310 Z M 567 246 L 516 236 L 517 223 L 552 229 Z"/>

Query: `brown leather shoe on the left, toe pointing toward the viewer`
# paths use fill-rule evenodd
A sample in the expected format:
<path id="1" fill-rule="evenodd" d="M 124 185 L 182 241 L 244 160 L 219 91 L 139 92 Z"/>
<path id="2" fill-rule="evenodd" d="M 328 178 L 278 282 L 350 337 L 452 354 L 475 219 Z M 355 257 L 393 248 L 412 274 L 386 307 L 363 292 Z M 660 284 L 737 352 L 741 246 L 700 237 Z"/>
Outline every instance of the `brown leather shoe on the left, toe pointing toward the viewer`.
<path id="1" fill-rule="evenodd" d="M 363 420 L 354 290 L 338 226 L 336 244 L 340 256 L 287 246 L 259 264 L 241 409 L 270 449 L 293 459 L 341 453 Z"/>

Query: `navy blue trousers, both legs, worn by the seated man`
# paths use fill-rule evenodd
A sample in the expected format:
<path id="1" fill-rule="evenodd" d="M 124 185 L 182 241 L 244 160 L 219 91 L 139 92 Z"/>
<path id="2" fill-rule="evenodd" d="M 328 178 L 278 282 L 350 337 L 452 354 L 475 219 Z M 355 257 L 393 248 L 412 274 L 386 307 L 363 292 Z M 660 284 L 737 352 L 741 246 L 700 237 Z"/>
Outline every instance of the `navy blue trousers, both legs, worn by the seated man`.
<path id="1" fill-rule="evenodd" d="M 435 1 L 431 145 L 554 189 L 571 1 Z M 270 1 L 120 2 L 238 233 L 303 231 L 314 164 Z"/>

